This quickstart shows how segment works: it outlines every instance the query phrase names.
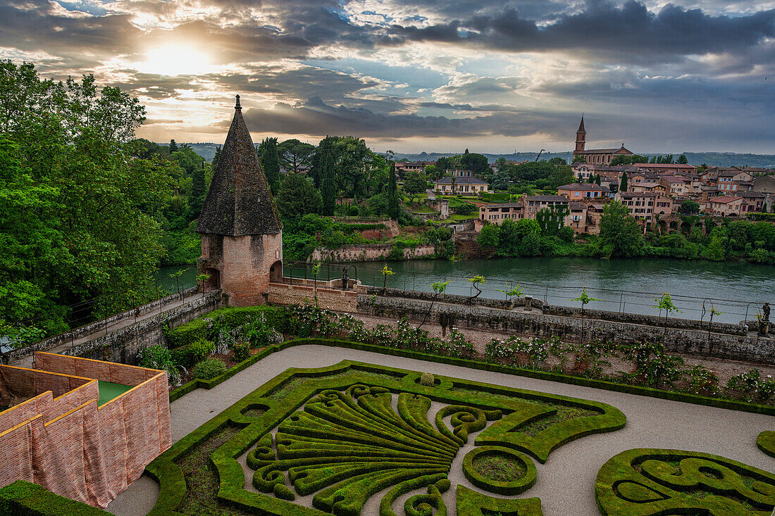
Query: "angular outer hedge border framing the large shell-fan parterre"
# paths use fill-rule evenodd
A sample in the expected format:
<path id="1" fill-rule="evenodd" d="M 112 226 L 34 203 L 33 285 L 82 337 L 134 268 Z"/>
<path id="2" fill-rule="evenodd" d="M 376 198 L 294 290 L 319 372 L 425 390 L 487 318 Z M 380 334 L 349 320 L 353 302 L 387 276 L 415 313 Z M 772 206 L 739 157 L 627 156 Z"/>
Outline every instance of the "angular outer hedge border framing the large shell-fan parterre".
<path id="1" fill-rule="evenodd" d="M 285 342 L 284 344 L 288 346 L 290 345 L 289 342 L 290 341 Z M 303 342 L 308 341 L 305 340 Z M 371 372 L 381 373 L 381 376 L 370 376 L 368 373 Z M 384 377 L 384 374 L 387 374 L 387 377 Z M 184 458 L 188 453 L 195 449 L 195 447 L 202 442 L 205 442 L 206 439 L 215 435 L 215 432 L 221 431 L 226 426 L 245 428 L 249 425 L 251 426 L 250 431 L 238 432 L 210 455 L 212 465 L 214 466 L 217 478 L 219 479 L 219 491 L 217 495 L 219 501 L 221 501 L 222 504 L 232 507 L 258 511 L 259 514 L 298 514 L 299 516 L 301 516 L 301 514 L 319 514 L 317 512 L 309 512 L 311 509 L 308 507 L 296 506 L 278 500 L 276 497 L 244 490 L 243 487 L 246 481 L 245 473 L 243 472 L 243 466 L 237 462 L 236 457 L 243 455 L 257 442 L 261 444 L 263 436 L 274 428 L 279 421 L 284 421 L 286 418 L 290 417 L 294 411 L 298 411 L 298 409 L 311 399 L 313 395 L 322 390 L 344 390 L 356 384 L 367 384 L 374 387 L 383 387 L 384 389 L 394 392 L 408 392 L 430 397 L 432 400 L 447 403 L 452 406 L 463 404 L 466 407 L 474 408 L 475 410 L 484 409 L 484 412 L 487 412 L 487 410 L 493 411 L 494 408 L 501 408 L 505 409 L 509 415 L 518 414 L 519 411 L 524 411 L 525 403 L 530 403 L 531 401 L 543 401 L 550 405 L 566 405 L 575 402 L 576 404 L 597 413 L 596 415 L 578 418 L 579 420 L 587 421 L 587 426 L 590 426 L 587 430 L 590 430 L 590 432 L 579 432 L 573 427 L 566 428 L 566 432 L 564 432 L 562 439 L 560 439 L 562 442 L 570 442 L 571 440 L 579 439 L 583 435 L 587 435 L 591 432 L 615 431 L 618 428 L 622 428 L 625 424 L 625 415 L 622 414 L 621 411 L 609 404 L 599 401 L 586 401 L 578 398 L 565 397 L 559 394 L 546 394 L 539 391 L 494 385 L 490 386 L 491 392 L 481 390 L 481 392 L 477 394 L 476 391 L 478 387 L 484 384 L 451 377 L 442 377 L 438 387 L 425 387 L 419 385 L 417 382 L 421 374 L 422 373 L 411 370 L 403 370 L 390 366 L 377 366 L 353 360 L 343 360 L 335 365 L 316 369 L 291 368 L 278 374 L 276 377 L 258 387 L 257 390 L 254 390 L 239 401 L 236 401 L 231 407 L 226 408 L 226 410 L 222 411 L 219 415 L 216 415 L 210 421 L 207 421 L 194 432 L 186 435 L 183 439 L 175 443 L 171 449 L 168 449 L 146 467 L 146 471 L 160 483 L 160 495 L 156 506 L 153 507 L 149 516 L 173 516 L 179 514 L 176 509 L 180 506 L 181 502 L 184 501 L 184 497 L 186 496 L 186 480 L 184 479 L 180 466 L 177 466 L 177 461 Z M 302 383 L 295 385 L 293 389 L 284 390 L 284 387 L 287 386 L 289 382 L 301 377 L 311 379 L 318 378 L 318 380 L 316 380 L 315 383 Z M 474 393 L 454 390 L 454 387 L 461 386 L 470 387 L 470 390 L 474 390 Z M 272 397 L 278 392 L 284 393 L 284 397 L 281 400 Z M 494 397 L 493 394 L 501 394 L 503 396 Z M 510 400 L 508 395 L 511 395 L 514 400 Z M 524 401 L 519 402 L 519 399 Z M 259 418 L 253 418 L 243 414 L 246 408 L 250 408 L 257 404 L 267 408 L 267 411 Z M 523 418 L 527 421 L 531 415 L 525 413 Z M 493 417 L 495 416 L 496 414 L 493 413 Z M 500 413 L 498 412 L 498 417 L 499 416 Z M 501 418 L 501 421 L 504 421 L 504 419 Z M 500 424 L 501 421 L 494 423 L 494 425 Z M 505 426 L 509 426 L 513 421 L 509 420 L 504 422 Z M 557 425 L 563 425 L 563 423 L 558 423 Z M 513 429 L 513 427 L 505 428 L 503 432 L 508 432 L 509 429 Z M 455 435 L 460 436 L 462 439 L 462 434 L 459 432 L 464 430 L 465 428 L 462 428 L 461 430 L 456 427 Z M 546 439 L 549 439 L 550 441 L 549 444 L 544 445 L 543 447 L 539 445 L 533 446 L 532 441 L 527 439 L 529 436 L 525 435 L 525 445 L 522 448 L 525 449 L 525 451 L 532 453 L 534 456 L 537 456 L 540 449 L 554 449 L 557 445 L 557 435 L 556 432 L 548 432 L 548 430 L 549 429 L 539 432 L 533 439 L 536 439 L 537 442 L 546 437 Z M 263 445 L 265 444 L 266 443 L 263 443 Z M 532 447 L 535 447 L 538 451 L 533 451 Z M 343 459 L 348 458 L 349 457 L 347 456 L 343 457 Z M 254 459 L 258 459 L 258 457 L 254 457 Z M 425 476 L 422 478 L 425 478 Z M 425 478 L 425 480 L 435 481 L 437 479 Z M 429 496 L 431 495 L 432 493 L 429 492 Z M 512 501 L 508 502 L 511 503 Z M 537 501 L 537 503 L 538 507 L 540 507 L 540 502 Z M 508 507 L 512 507 L 512 505 L 508 505 Z M 535 507 L 535 503 L 532 503 L 532 507 Z M 350 512 L 347 514 L 350 514 Z M 540 513 L 529 512 L 528 514 Z"/>

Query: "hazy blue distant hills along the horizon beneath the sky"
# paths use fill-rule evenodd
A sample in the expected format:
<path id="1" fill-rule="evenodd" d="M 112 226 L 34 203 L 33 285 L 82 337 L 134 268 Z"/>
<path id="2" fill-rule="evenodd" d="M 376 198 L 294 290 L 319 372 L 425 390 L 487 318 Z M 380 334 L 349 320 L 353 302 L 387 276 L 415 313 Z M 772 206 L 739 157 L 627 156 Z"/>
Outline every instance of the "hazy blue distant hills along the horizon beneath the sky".
<path id="1" fill-rule="evenodd" d="M 181 144 L 181 143 L 179 143 Z M 160 145 L 167 145 L 167 143 L 160 143 Z M 191 149 L 205 158 L 205 160 L 212 161 L 215 157 L 215 147 L 219 146 L 219 143 L 189 143 Z M 538 156 L 538 152 L 535 153 L 511 153 L 511 154 L 491 154 L 483 153 L 491 163 L 497 160 L 499 157 L 506 160 L 517 161 L 532 161 Z M 670 154 L 665 153 L 645 153 L 644 156 L 653 156 L 655 154 Z M 701 165 L 702 163 L 708 163 L 708 165 L 715 165 L 717 167 L 775 167 L 775 154 L 739 154 L 739 153 L 672 153 L 673 157 L 679 157 L 681 154 L 686 154 L 687 160 L 693 165 Z M 443 156 L 453 156 L 453 153 L 419 153 L 408 154 L 398 153 L 395 155 L 396 160 L 406 161 L 435 161 Z M 561 157 L 570 163 L 573 159 L 573 153 L 570 151 L 566 153 L 542 153 L 542 160 L 551 160 L 553 157 Z"/>

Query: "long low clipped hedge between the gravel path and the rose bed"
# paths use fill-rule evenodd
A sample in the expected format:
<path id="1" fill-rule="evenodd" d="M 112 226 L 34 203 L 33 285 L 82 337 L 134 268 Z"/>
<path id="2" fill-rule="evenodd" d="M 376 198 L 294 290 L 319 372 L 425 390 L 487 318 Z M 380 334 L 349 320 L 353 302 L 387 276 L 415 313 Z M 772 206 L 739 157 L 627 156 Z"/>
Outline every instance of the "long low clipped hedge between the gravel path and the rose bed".
<path id="1" fill-rule="evenodd" d="M 636 396 L 648 396 L 656 397 L 663 400 L 670 401 L 682 401 L 684 403 L 704 405 L 706 407 L 713 408 L 725 408 L 733 411 L 753 412 L 755 414 L 763 415 L 775 415 L 775 406 L 760 405 L 748 403 L 746 401 L 725 400 L 718 397 L 700 396 L 698 394 L 688 394 L 681 392 L 673 392 L 670 390 L 653 389 L 651 387 L 642 387 L 639 385 L 627 385 L 617 384 L 608 380 L 595 380 L 592 378 L 574 377 L 563 373 L 553 373 L 550 371 L 539 371 L 532 369 L 522 369 L 513 366 L 504 366 L 497 363 L 482 362 L 479 360 L 461 359 L 453 356 L 440 356 L 432 355 L 429 353 L 421 353 L 418 351 L 410 351 L 408 349 L 396 349 L 386 348 L 383 346 L 375 346 L 374 344 L 364 344 L 363 342 L 352 342 L 341 339 L 291 339 L 280 344 L 267 346 L 259 353 L 251 356 L 249 359 L 233 366 L 219 377 L 215 377 L 212 380 L 195 379 L 184 384 L 177 389 L 172 390 L 170 393 L 170 401 L 175 401 L 185 394 L 190 393 L 192 390 L 203 388 L 212 389 L 218 384 L 229 380 L 236 373 L 245 370 L 247 367 L 257 363 L 260 359 L 266 358 L 272 353 L 283 351 L 292 346 L 332 346 L 346 349 L 358 349 L 360 351 L 370 351 L 373 353 L 381 353 L 383 355 L 401 356 L 405 358 L 425 360 L 426 362 L 446 363 L 450 366 L 461 366 L 469 369 L 484 370 L 490 373 L 505 373 L 513 374 L 521 377 L 536 378 L 538 380 L 549 380 L 554 382 L 560 382 L 562 384 L 579 385 L 581 387 L 592 387 L 595 389 L 612 390 L 614 392 L 622 392 L 625 394 L 635 394 Z"/>

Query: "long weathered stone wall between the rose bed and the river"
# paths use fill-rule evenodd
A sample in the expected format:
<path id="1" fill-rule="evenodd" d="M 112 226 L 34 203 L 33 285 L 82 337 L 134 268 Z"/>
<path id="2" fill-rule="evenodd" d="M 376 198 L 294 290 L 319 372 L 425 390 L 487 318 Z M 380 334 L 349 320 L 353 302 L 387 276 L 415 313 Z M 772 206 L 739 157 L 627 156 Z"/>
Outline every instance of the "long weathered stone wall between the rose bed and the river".
<path id="1" fill-rule="evenodd" d="M 380 291 L 380 289 L 374 290 Z M 393 294 L 398 292 L 401 291 L 391 291 Z M 690 327 L 664 329 L 661 325 L 656 325 L 650 321 L 646 324 L 639 324 L 624 320 L 582 319 L 579 316 L 542 314 L 536 311 L 511 311 L 501 307 L 491 308 L 482 304 L 451 304 L 449 302 L 452 301 L 450 298 L 462 298 L 463 296 L 445 296 L 443 302 L 437 300 L 433 304 L 429 301 L 432 294 L 422 297 L 410 299 L 360 294 L 357 298 L 357 309 L 359 313 L 364 315 L 375 315 L 395 320 L 408 318 L 413 322 L 422 321 L 425 315 L 429 314 L 428 322 L 439 324 L 445 329 L 454 327 L 536 337 L 557 336 L 563 340 L 580 340 L 583 335 L 583 339 L 586 341 L 601 340 L 621 344 L 661 340 L 667 350 L 672 353 L 775 365 L 775 341 L 770 338 L 708 332 Z M 488 303 L 484 300 L 475 301 L 483 304 Z M 498 304 L 503 303 L 504 301 L 498 301 Z M 547 311 L 551 311 L 552 308 L 556 307 L 545 308 Z M 595 311 L 595 313 L 601 312 Z M 616 312 L 605 312 L 605 314 L 611 319 L 618 315 Z M 668 324 L 675 321 L 683 320 L 671 319 Z M 689 323 L 691 322 L 681 324 L 689 326 Z M 735 328 L 735 325 L 720 326 Z"/>

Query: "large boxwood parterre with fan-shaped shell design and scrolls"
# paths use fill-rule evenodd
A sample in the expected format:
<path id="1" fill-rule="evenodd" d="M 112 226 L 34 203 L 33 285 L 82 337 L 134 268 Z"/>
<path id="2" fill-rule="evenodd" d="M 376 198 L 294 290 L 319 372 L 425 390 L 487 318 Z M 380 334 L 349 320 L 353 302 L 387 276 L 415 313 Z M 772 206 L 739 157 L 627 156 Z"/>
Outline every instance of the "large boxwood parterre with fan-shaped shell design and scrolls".
<path id="1" fill-rule="evenodd" d="M 480 474 L 474 485 L 488 495 L 458 486 L 457 514 L 532 516 L 538 499 L 498 497 L 535 482 L 531 456 L 545 462 L 565 442 L 625 425 L 621 411 L 596 401 L 449 377 L 426 387 L 420 377 L 353 361 L 281 373 L 147 467 L 161 488 L 150 514 L 355 516 L 377 493 L 380 516 L 446 514 L 450 467 L 468 445 L 511 454 L 522 473 L 518 487 Z M 254 471 L 247 482 L 242 456 Z M 294 503 L 308 496 L 312 507 Z"/>

